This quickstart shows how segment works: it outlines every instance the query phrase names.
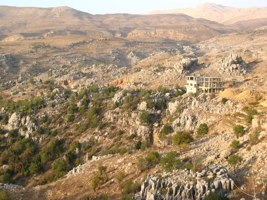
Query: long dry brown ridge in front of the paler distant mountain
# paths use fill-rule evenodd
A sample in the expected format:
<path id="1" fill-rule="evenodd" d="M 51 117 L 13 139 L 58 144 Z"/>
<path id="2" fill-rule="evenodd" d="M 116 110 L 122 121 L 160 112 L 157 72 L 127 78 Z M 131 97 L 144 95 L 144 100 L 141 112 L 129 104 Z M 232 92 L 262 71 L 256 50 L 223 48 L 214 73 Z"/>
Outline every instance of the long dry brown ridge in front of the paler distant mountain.
<path id="1" fill-rule="evenodd" d="M 70 7 L 0 6 L 0 39 L 44 35 L 109 35 L 163 37 L 176 40 L 208 39 L 233 32 L 231 27 L 185 14 L 97 14 Z"/>

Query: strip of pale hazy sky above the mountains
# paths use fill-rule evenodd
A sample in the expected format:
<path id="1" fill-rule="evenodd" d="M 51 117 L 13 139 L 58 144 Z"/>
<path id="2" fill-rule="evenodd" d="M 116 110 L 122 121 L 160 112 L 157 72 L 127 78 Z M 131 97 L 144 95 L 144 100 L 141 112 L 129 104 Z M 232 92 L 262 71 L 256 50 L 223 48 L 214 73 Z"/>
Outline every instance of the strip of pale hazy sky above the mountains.
<path id="1" fill-rule="evenodd" d="M 145 13 L 156 9 L 195 7 L 214 2 L 232 7 L 267 6 L 267 0 L 0 0 L 0 5 L 56 7 L 66 5 L 91 14 Z"/>

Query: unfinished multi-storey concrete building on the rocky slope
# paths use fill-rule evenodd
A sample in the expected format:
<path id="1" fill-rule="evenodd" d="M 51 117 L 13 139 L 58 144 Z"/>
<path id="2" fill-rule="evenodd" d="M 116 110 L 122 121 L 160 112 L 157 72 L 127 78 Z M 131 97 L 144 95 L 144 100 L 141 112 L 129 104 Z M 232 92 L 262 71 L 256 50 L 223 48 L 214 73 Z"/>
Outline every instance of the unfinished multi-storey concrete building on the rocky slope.
<path id="1" fill-rule="evenodd" d="M 220 77 L 208 77 L 203 73 L 195 72 L 186 75 L 186 93 L 219 93 L 223 90 L 222 79 Z"/>

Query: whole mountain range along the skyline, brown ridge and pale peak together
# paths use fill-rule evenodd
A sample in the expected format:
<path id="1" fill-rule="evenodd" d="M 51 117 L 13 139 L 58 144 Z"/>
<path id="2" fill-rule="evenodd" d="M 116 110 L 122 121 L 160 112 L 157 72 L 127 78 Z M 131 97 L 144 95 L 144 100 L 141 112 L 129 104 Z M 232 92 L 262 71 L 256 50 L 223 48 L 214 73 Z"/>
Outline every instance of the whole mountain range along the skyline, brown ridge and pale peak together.
<path id="1" fill-rule="evenodd" d="M 152 11 L 143 15 L 92 15 L 67 6 L 0 6 L 0 40 L 88 34 L 195 41 L 234 32 L 240 27 L 261 25 L 267 25 L 267 7 L 232 8 L 204 3 L 195 8 Z"/>

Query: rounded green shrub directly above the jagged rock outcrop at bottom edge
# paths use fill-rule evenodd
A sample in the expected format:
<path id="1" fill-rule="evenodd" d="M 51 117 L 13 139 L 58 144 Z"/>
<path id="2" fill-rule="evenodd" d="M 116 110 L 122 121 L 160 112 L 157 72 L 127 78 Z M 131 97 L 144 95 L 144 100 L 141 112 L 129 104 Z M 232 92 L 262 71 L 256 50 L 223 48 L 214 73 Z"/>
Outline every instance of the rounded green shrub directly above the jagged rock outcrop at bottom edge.
<path id="1" fill-rule="evenodd" d="M 161 158 L 159 164 L 164 170 L 172 171 L 173 169 L 176 169 L 181 163 L 177 156 L 179 156 L 179 153 L 177 153 L 176 151 L 169 151 L 167 152 L 165 157 Z"/>

